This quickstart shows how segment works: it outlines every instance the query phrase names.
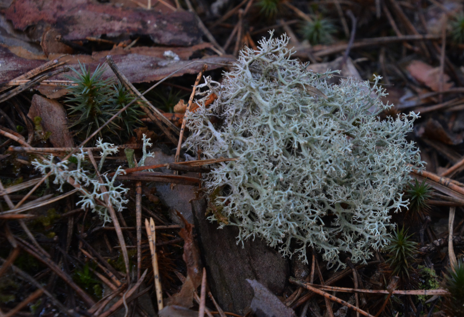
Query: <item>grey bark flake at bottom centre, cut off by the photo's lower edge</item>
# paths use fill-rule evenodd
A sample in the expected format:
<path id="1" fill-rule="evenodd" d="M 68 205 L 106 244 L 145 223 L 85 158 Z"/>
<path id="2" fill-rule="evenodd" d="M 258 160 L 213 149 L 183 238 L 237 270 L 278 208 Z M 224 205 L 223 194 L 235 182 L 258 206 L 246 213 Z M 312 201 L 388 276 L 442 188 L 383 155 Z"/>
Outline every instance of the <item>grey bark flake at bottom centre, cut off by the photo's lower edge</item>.
<path id="1" fill-rule="evenodd" d="M 296 317 L 295 311 L 272 294 L 256 279 L 246 279 L 250 283 L 255 296 L 251 300 L 250 308 L 257 317 Z"/>

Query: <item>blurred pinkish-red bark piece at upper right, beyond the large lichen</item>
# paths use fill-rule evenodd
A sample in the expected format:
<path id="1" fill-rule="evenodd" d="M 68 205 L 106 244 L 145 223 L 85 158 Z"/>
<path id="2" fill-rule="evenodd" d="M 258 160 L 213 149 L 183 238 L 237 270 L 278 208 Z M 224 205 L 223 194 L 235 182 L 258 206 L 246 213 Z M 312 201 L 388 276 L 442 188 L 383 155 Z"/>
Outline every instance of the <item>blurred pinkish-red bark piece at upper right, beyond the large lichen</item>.
<path id="1" fill-rule="evenodd" d="M 412 77 L 418 82 L 429 87 L 433 91 L 440 90 L 440 68 L 432 67 L 421 61 L 412 61 L 406 69 Z M 450 81 L 450 76 L 443 74 L 443 90 L 448 90 L 453 86 Z"/>

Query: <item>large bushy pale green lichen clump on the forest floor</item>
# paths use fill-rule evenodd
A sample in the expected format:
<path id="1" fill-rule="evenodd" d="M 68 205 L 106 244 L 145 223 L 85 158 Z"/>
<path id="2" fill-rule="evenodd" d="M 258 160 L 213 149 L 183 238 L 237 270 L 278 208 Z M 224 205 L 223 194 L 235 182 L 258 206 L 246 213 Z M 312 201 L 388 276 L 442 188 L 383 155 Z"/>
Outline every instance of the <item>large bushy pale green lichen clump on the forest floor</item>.
<path id="1" fill-rule="evenodd" d="M 379 120 L 391 107 L 380 101 L 379 78 L 372 88 L 329 84 L 332 72 L 290 58 L 286 36 L 259 43 L 241 51 L 221 83 L 206 78 L 199 104 L 211 93 L 218 99 L 187 114 L 188 149 L 238 159 L 206 178 L 210 219 L 238 226 L 238 241 L 260 236 L 284 255 L 306 260 L 310 246 L 329 266 L 343 266 L 340 252 L 364 262 L 388 243 L 389 212 L 407 205 L 401 191 L 421 166 L 405 139 L 416 115 Z"/>

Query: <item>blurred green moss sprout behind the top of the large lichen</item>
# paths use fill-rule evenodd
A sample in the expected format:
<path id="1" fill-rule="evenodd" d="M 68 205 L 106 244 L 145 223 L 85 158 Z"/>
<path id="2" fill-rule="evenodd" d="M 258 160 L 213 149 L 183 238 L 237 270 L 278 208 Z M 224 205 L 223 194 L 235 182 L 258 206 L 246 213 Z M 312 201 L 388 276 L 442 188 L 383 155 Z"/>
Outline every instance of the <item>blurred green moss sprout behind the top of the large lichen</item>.
<path id="1" fill-rule="evenodd" d="M 336 32 L 337 29 L 330 19 L 320 17 L 316 17 L 313 21 L 306 21 L 300 29 L 303 38 L 313 45 L 329 44 L 333 40 L 332 34 Z"/>

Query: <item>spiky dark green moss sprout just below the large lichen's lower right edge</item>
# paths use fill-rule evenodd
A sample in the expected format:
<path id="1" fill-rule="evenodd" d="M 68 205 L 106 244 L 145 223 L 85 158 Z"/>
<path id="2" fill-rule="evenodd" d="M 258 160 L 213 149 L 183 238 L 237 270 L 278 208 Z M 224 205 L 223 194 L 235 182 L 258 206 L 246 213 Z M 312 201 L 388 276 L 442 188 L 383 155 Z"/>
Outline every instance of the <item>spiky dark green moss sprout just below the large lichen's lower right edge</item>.
<path id="1" fill-rule="evenodd" d="M 392 274 L 400 276 L 403 282 L 411 278 L 410 272 L 415 272 L 411 264 L 416 262 L 414 254 L 417 253 L 417 243 L 410 240 L 411 236 L 407 235 L 404 227 L 401 230 L 397 228 L 389 238 L 390 245 L 385 247 L 389 255 L 386 263 L 393 269 Z"/>

